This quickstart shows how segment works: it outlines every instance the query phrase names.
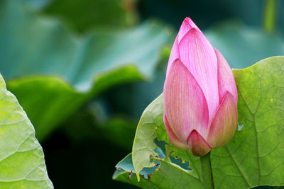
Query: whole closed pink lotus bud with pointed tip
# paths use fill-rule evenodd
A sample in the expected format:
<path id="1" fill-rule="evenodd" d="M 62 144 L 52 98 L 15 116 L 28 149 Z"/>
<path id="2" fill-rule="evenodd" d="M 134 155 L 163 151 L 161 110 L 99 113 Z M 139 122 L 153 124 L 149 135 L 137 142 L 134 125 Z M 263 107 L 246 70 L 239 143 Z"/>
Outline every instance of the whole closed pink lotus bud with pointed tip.
<path id="1" fill-rule="evenodd" d="M 234 76 L 190 18 L 170 53 L 164 85 L 164 123 L 170 143 L 203 156 L 227 144 L 236 131 L 238 93 Z"/>

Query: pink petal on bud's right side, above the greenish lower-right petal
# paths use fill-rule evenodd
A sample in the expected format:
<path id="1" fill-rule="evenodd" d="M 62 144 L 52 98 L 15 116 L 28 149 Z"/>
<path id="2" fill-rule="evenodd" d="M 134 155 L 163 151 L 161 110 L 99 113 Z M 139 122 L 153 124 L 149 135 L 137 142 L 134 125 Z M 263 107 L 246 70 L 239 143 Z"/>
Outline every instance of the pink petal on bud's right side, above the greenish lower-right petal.
<path id="1" fill-rule="evenodd" d="M 226 59 L 222 54 L 215 49 L 218 62 L 218 85 L 219 85 L 219 100 L 220 103 L 223 99 L 224 93 L 229 91 L 235 99 L 235 103 L 238 101 L 238 91 L 236 90 L 236 82 L 233 76 L 233 72 L 229 67 L 229 64 L 226 62 Z"/>

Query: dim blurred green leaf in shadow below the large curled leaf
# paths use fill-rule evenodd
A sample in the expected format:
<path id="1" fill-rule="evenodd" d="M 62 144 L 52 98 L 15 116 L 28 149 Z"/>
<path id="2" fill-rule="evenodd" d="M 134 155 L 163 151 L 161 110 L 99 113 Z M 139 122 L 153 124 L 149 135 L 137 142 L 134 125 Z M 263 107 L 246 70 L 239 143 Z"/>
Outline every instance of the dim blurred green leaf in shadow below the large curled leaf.
<path id="1" fill-rule="evenodd" d="M 62 124 L 61 130 L 73 143 L 97 139 L 108 141 L 114 147 L 120 147 L 126 151 L 131 150 L 136 121 L 123 115 L 103 117 L 104 115 L 95 108 L 80 108 L 72 115 L 72 118 Z"/>

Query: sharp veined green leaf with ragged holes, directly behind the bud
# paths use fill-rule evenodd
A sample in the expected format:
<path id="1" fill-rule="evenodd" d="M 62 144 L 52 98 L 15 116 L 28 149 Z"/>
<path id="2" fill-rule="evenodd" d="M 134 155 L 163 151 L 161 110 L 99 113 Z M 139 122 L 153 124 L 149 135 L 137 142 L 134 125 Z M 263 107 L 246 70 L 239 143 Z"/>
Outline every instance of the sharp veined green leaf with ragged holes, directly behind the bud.
<path id="1" fill-rule="evenodd" d="M 239 124 L 244 126 L 229 144 L 212 150 L 215 188 L 284 185 L 284 57 L 263 59 L 233 72 L 239 91 Z M 163 111 L 161 95 L 141 116 L 132 151 L 135 173 L 159 166 L 148 176 L 148 182 L 160 188 L 202 188 L 199 157 L 170 144 L 165 145 L 166 156 L 158 153 L 155 139 L 168 143 Z M 190 170 L 175 164 L 173 157 L 189 162 Z M 125 175 L 121 177 L 114 178 L 136 185 L 126 181 Z M 145 188 L 144 184 L 139 186 Z"/>

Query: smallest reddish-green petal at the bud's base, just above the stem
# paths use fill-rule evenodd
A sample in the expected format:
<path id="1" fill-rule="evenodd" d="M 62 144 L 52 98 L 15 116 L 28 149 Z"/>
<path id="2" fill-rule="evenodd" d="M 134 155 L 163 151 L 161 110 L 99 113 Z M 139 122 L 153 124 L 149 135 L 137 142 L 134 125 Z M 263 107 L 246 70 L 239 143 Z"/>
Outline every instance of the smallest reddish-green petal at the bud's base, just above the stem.
<path id="1" fill-rule="evenodd" d="M 190 137 L 188 137 L 187 143 L 190 147 L 191 153 L 194 156 L 204 156 L 212 149 L 196 130 L 193 130 L 190 133 Z"/>

